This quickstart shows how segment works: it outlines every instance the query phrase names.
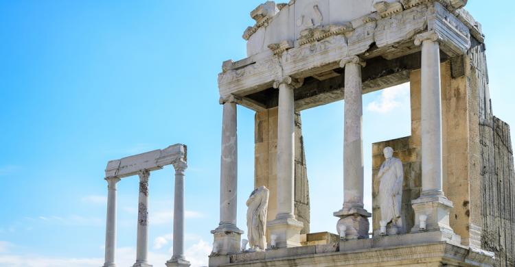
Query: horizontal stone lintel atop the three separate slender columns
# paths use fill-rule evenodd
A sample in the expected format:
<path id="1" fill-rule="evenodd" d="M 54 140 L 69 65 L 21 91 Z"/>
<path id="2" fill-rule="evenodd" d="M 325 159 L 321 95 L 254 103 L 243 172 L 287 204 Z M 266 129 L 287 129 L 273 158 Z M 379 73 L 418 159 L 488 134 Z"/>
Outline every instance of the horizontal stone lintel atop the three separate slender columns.
<path id="1" fill-rule="evenodd" d="M 187 148 L 184 144 L 174 144 L 165 149 L 132 155 L 120 160 L 111 160 L 106 166 L 106 178 L 129 177 L 137 175 L 140 170 L 159 170 L 179 161 L 187 161 Z"/>

